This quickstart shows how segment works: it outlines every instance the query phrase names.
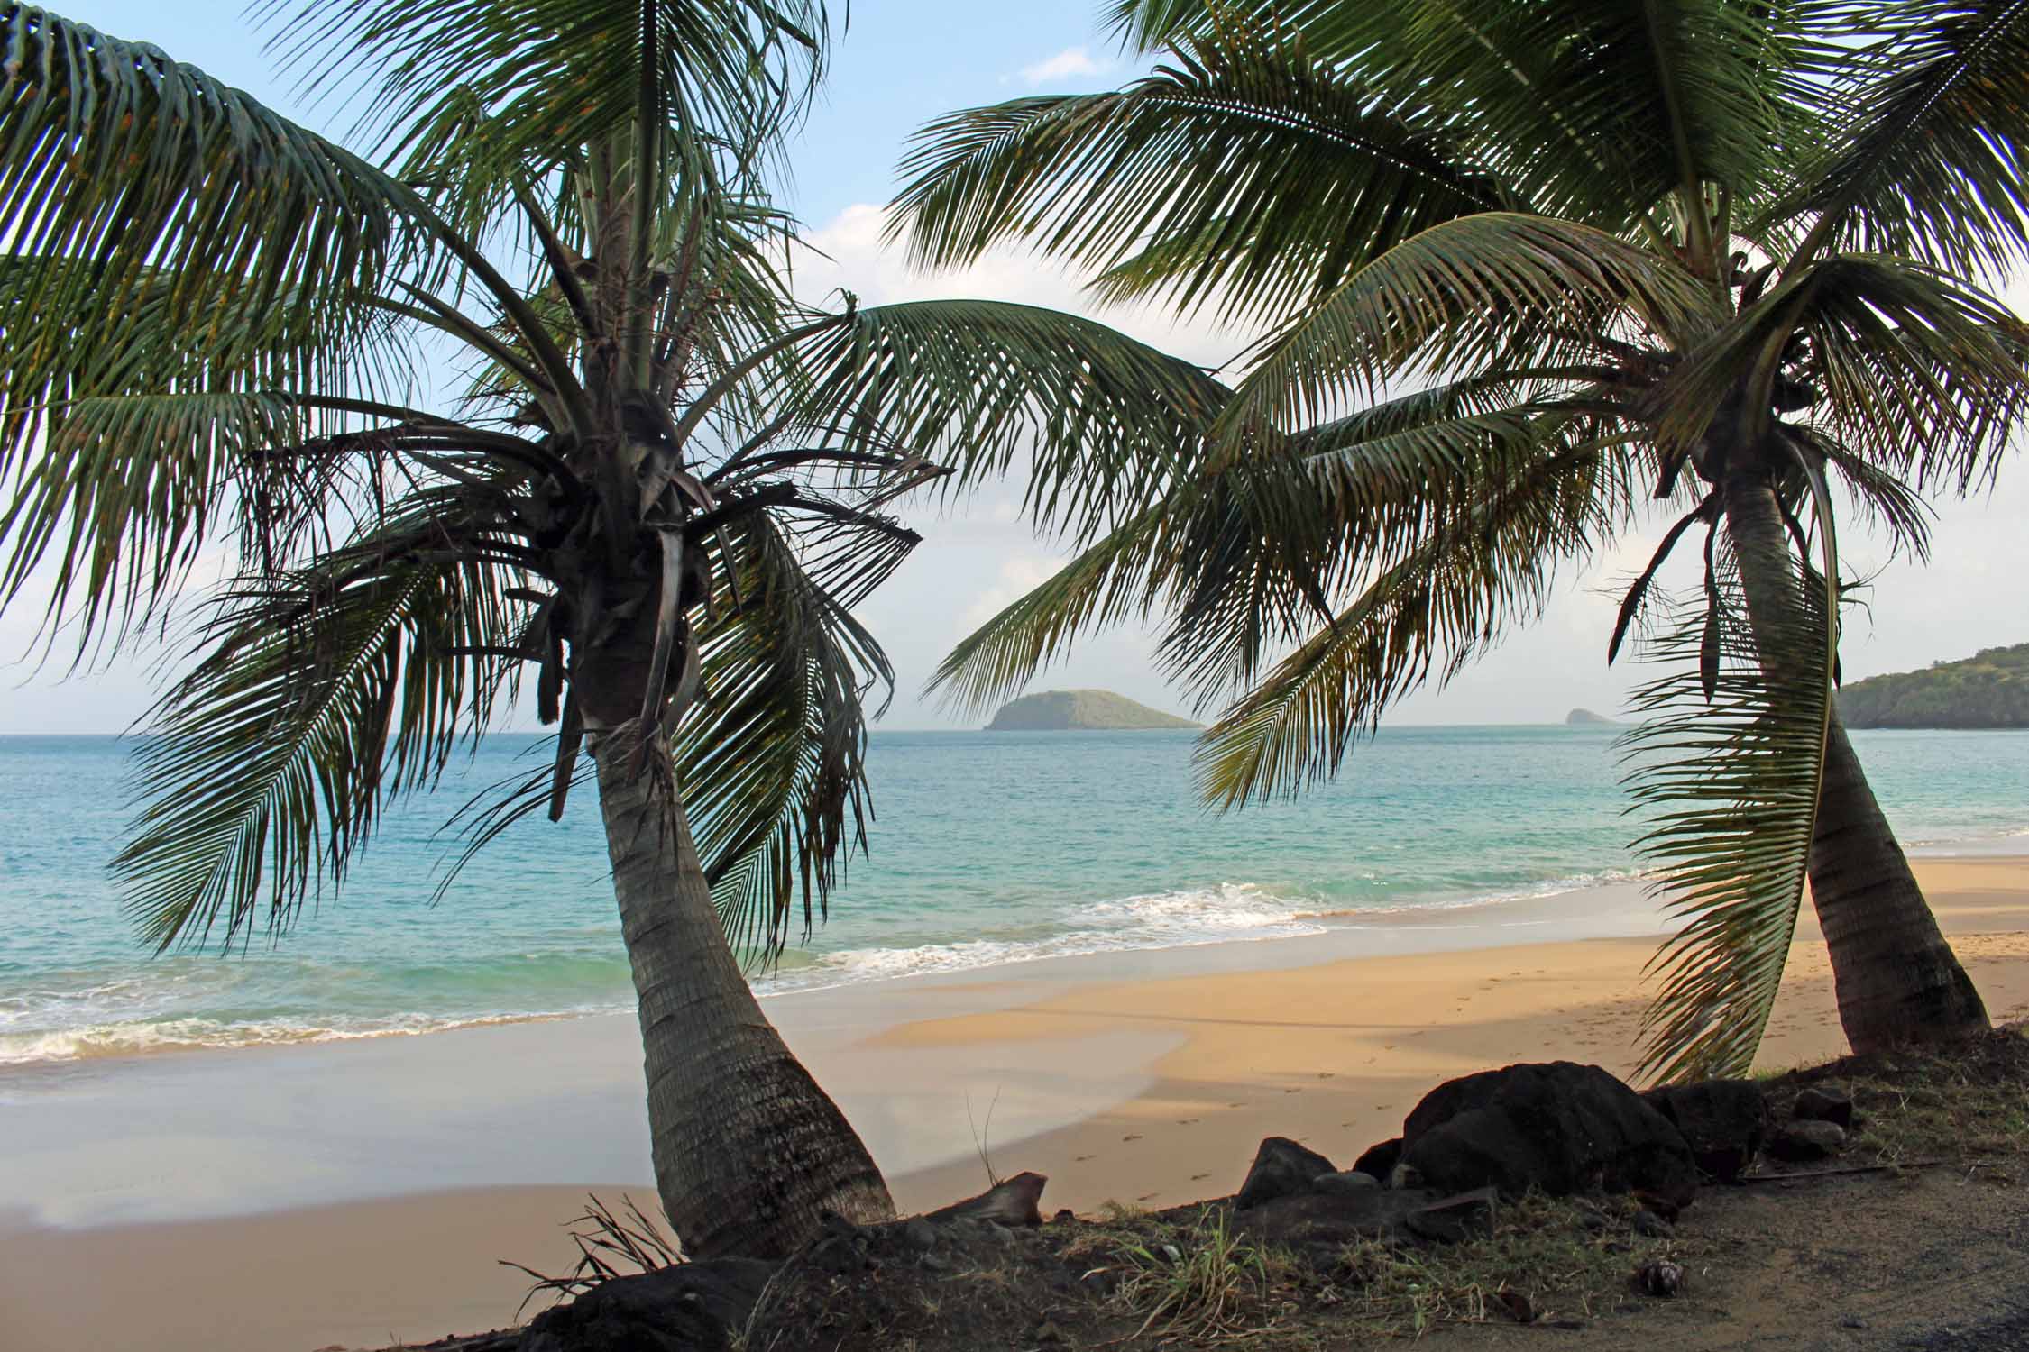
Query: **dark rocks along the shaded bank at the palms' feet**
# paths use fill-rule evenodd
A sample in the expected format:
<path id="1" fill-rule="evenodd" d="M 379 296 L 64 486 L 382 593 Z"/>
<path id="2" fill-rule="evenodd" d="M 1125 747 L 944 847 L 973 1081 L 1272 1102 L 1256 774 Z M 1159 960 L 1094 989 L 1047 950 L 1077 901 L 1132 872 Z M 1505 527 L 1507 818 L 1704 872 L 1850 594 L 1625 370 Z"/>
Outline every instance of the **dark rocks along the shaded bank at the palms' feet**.
<path id="1" fill-rule="evenodd" d="M 1491 1232 L 1499 1208 L 1532 1190 L 1617 1192 L 1639 1202 L 1635 1234 L 1668 1238 L 1700 1182 L 1735 1182 L 1761 1153 L 1824 1159 L 1852 1123 L 1850 1097 L 1828 1084 L 1800 1091 L 1775 1123 L 1751 1080 L 1637 1095 L 1599 1066 L 1526 1062 L 1439 1084 L 1400 1137 L 1372 1145 L 1349 1170 L 1301 1141 L 1264 1139 L 1232 1198 L 1232 1224 L 1329 1265 L 1361 1238 L 1451 1245 Z M 1051 1257 L 1043 1184 L 1019 1174 L 968 1202 L 879 1226 L 832 1218 L 787 1265 L 718 1259 L 613 1279 L 538 1316 L 517 1352 L 720 1352 L 734 1346 L 763 1291 L 773 1291 L 769 1311 L 797 1283 L 879 1303 L 883 1273 L 923 1281 L 1012 1261 L 1043 1291 L 1110 1295 L 1118 1281 L 1110 1267 L 1065 1269 Z M 1077 1224 L 1067 1212 L 1057 1220 Z M 1635 1275 L 1652 1295 L 1674 1295 L 1682 1283 L 1682 1267 L 1666 1259 Z M 1027 1338 L 1051 1346 L 1063 1336 L 1039 1326 Z"/>

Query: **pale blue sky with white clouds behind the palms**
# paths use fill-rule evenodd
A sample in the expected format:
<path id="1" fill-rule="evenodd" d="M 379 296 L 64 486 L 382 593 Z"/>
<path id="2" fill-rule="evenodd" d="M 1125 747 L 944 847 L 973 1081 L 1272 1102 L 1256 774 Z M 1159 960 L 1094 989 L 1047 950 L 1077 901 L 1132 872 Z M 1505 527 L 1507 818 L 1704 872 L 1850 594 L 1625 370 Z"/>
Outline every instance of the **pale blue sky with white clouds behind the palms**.
<path id="1" fill-rule="evenodd" d="M 239 0 L 71 0 L 69 18 L 103 32 L 154 43 L 179 61 L 300 122 L 343 134 L 355 109 L 304 105 L 298 79 L 276 77 L 264 30 Z M 844 6 L 834 6 L 834 16 Z M 1138 339 L 1205 365 L 1230 361 L 1244 336 L 1211 324 L 1177 324 L 1134 310 L 1098 310 L 1077 280 L 1021 253 L 1000 253 L 958 274 L 923 276 L 881 245 L 881 211 L 897 186 L 895 164 L 923 122 L 1025 93 L 1108 89 L 1140 69 L 1102 32 L 1100 0 L 1027 0 L 1019 6 L 948 0 L 856 0 L 834 49 L 828 95 L 791 152 L 785 205 L 830 261 L 801 270 L 808 296 L 832 286 L 862 304 L 929 296 L 986 296 L 1096 314 Z M 2029 286 L 2011 286 L 2017 310 Z M 972 628 L 1043 582 L 1063 559 L 1017 519 L 1019 486 L 988 489 L 956 503 L 919 503 L 909 523 L 925 537 L 901 572 L 862 608 L 897 669 L 893 705 L 879 728 L 978 726 L 984 713 L 923 695 L 937 661 Z M 1976 501 L 1938 503 L 1930 564 L 1891 561 L 1859 523 L 1842 525 L 1848 572 L 1871 578 L 1867 602 L 1846 620 L 1844 675 L 1926 667 L 1982 647 L 2029 639 L 2029 464 L 2011 456 L 1999 489 Z M 1641 669 L 1605 663 L 1615 584 L 1646 564 L 1668 521 L 1652 523 L 1591 568 L 1558 580 L 1544 616 L 1514 632 L 1445 689 L 1404 699 L 1400 724 L 1540 724 L 1572 707 L 1613 713 Z M 140 718 L 160 673 L 160 653 L 130 653 L 85 673 L 30 659 L 41 606 L 24 596 L 0 614 L 0 734 L 122 732 Z M 1189 711 L 1165 689 L 1138 630 L 1077 645 L 1031 689 L 1096 685 L 1167 709 Z"/>

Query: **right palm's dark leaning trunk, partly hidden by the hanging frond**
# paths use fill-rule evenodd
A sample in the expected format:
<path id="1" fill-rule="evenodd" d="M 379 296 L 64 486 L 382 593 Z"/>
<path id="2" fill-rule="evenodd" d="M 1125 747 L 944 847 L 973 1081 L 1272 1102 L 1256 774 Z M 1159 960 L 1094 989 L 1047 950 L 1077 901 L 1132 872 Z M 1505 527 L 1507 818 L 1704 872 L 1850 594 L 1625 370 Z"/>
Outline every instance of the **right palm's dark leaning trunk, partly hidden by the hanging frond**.
<path id="1" fill-rule="evenodd" d="M 1771 616 L 1796 606 L 1796 568 L 1775 491 L 1763 478 L 1729 480 L 1727 531 L 1749 624 L 1779 628 Z M 1838 1022 L 1855 1052 L 1988 1026 L 1986 1005 L 1938 930 L 1836 711 L 1810 843 L 1810 898 L 1832 957 Z"/>

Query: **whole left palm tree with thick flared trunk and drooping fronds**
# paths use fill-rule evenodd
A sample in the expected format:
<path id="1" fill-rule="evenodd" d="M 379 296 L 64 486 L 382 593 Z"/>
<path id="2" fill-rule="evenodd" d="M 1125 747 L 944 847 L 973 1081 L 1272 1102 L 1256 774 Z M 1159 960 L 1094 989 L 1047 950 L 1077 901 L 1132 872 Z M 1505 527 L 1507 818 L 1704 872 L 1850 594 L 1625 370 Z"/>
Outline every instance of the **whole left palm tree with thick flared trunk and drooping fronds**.
<path id="1" fill-rule="evenodd" d="M 280 41 L 377 158 L 0 6 L 0 604 L 47 586 L 85 655 L 231 559 L 140 750 L 142 934 L 286 928 L 528 669 L 556 754 L 469 845 L 597 780 L 686 1249 L 893 1214 L 741 967 L 864 845 L 889 507 L 1019 462 L 1094 533 L 1215 387 L 1047 310 L 799 304 L 767 184 L 816 0 L 373 0 Z"/>

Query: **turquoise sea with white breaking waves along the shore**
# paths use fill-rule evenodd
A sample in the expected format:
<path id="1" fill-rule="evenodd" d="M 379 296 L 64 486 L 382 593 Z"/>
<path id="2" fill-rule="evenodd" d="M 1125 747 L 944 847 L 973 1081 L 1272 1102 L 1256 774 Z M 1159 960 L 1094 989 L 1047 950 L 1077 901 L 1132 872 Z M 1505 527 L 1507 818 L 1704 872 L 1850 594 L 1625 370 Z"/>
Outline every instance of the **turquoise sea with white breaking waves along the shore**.
<path id="1" fill-rule="evenodd" d="M 2029 831 L 2029 734 L 1857 734 L 1911 845 Z M 106 878 L 130 817 L 114 738 L 0 738 L 0 1064 L 428 1032 L 629 1007 L 605 845 L 580 797 L 430 904 L 444 819 L 540 754 L 489 740 L 388 821 L 278 945 L 146 957 Z M 1317 932 L 1333 916 L 1627 878 L 1613 732 L 1400 728 L 1339 782 L 1215 817 L 1191 734 L 874 734 L 872 857 L 765 989 Z M 2029 845 L 2029 841 L 2025 841 Z"/>

